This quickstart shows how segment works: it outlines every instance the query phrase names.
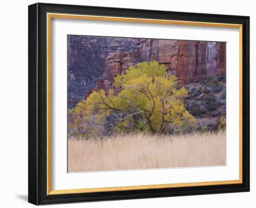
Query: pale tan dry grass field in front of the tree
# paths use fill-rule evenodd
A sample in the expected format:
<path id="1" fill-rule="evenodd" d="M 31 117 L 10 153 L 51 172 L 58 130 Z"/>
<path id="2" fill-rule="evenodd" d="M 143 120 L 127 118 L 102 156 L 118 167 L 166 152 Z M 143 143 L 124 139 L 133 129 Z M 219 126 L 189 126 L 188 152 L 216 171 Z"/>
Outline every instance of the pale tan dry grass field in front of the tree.
<path id="1" fill-rule="evenodd" d="M 101 140 L 68 140 L 68 172 L 225 164 L 225 133 L 179 136 L 139 133 Z"/>

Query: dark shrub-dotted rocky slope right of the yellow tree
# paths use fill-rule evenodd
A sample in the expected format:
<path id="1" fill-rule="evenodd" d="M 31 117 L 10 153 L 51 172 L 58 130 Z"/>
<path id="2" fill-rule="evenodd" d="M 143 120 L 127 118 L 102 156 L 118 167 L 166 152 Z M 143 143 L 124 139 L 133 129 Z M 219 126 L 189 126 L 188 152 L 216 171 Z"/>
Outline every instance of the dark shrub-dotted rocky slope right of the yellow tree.
<path id="1" fill-rule="evenodd" d="M 226 117 L 226 77 L 205 77 L 184 87 L 189 95 L 183 102 L 196 118 L 198 130 L 217 130 L 220 117 Z"/>

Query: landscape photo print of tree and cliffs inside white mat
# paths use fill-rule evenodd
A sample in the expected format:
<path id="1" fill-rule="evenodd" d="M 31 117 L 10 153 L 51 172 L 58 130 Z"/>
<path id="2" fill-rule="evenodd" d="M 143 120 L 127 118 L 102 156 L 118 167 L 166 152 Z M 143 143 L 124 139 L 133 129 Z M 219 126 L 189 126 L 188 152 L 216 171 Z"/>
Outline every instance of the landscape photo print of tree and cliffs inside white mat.
<path id="1" fill-rule="evenodd" d="M 226 42 L 67 35 L 68 172 L 226 165 Z"/>

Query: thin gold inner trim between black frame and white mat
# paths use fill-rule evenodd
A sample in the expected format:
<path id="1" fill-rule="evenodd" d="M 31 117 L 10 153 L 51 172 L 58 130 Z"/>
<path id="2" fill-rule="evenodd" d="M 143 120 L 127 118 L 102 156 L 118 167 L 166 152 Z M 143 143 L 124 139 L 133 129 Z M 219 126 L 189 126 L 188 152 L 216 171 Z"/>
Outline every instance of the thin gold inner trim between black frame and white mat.
<path id="1" fill-rule="evenodd" d="M 52 190 L 52 161 L 51 161 L 51 23 L 53 18 L 61 19 L 77 19 L 77 20 L 99 20 L 99 21 L 119 21 L 119 22 L 137 22 L 151 24 L 167 24 L 167 25 L 185 25 L 185 26 L 212 26 L 212 27 L 228 27 L 239 28 L 239 180 L 229 181 L 213 181 L 213 182 L 189 182 L 189 183 L 171 183 L 141 186 L 121 186 L 107 188 L 88 188 L 88 189 L 65 189 Z M 108 16 L 91 16 L 91 15 L 75 15 L 64 13 L 47 13 L 47 195 L 60 194 L 78 194 L 93 193 L 105 191 L 123 191 L 123 190 L 142 190 L 142 189 L 163 189 L 193 186 L 211 186 L 243 183 L 243 25 L 213 23 L 213 22 L 195 22 L 195 21 L 179 21 L 179 20 L 157 20 L 142 18 L 123 18 Z"/>

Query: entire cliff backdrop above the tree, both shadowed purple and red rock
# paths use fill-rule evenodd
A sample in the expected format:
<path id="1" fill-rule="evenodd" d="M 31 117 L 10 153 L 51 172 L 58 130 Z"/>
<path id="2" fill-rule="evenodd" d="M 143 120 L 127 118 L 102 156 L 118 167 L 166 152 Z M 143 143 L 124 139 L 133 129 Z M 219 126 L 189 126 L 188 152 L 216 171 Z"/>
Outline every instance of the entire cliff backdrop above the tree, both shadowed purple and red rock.
<path id="1" fill-rule="evenodd" d="M 183 86 L 226 72 L 226 43 L 166 39 L 67 36 L 68 108 L 92 91 L 112 88 L 114 77 L 142 61 L 158 61 Z"/>

